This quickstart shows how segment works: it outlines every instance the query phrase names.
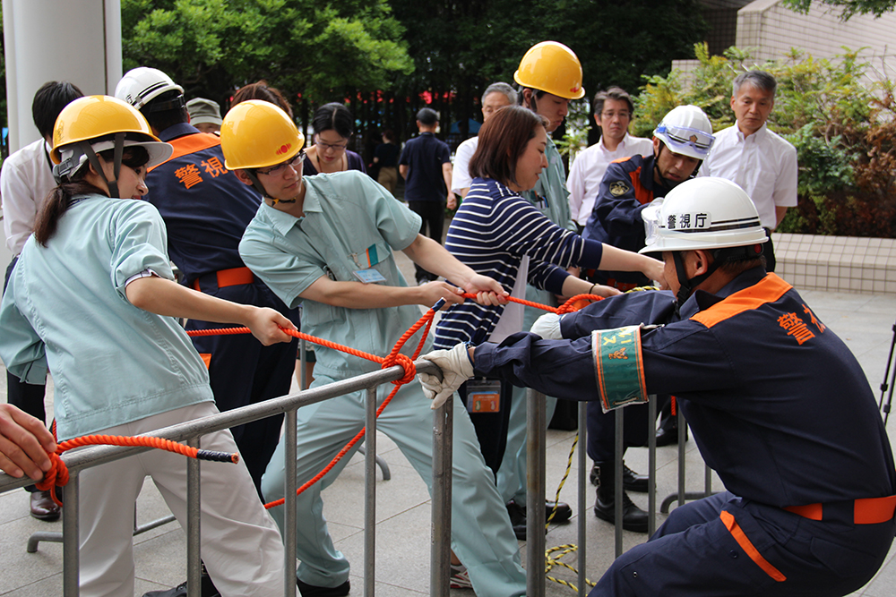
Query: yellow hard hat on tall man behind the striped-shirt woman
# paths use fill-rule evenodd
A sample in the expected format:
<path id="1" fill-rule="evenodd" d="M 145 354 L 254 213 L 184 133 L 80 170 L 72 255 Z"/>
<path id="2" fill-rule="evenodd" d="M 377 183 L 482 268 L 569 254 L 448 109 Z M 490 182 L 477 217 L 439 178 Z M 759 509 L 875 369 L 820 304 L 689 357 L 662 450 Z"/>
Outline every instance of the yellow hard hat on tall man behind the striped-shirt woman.
<path id="1" fill-rule="evenodd" d="M 582 63 L 573 50 L 558 41 L 542 41 L 522 56 L 513 80 L 523 87 L 547 91 L 559 98 L 579 99 L 582 89 Z"/>

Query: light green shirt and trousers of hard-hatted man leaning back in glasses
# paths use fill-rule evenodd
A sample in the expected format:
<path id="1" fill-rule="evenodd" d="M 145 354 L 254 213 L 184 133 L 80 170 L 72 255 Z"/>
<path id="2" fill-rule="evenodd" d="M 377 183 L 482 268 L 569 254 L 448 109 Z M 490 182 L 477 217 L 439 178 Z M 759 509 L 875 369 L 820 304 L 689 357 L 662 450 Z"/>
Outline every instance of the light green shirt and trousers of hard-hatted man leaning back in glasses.
<path id="1" fill-rule="evenodd" d="M 407 286 L 392 251 L 414 242 L 420 218 L 359 172 L 314 175 L 304 183 L 305 217 L 292 217 L 263 204 L 246 228 L 240 255 L 284 303 L 305 305 L 302 326 L 307 334 L 384 356 L 419 319 L 416 305 L 347 309 L 303 300 L 299 294 L 322 276 L 357 281 L 355 271 L 371 268 L 385 277 L 383 285 Z M 415 345 L 411 338 L 404 352 L 411 354 Z M 426 348 L 429 345 L 427 340 Z M 379 368 L 375 362 L 331 348 L 316 351 L 313 388 Z M 378 402 L 391 389 L 391 384 L 378 388 Z M 364 395 L 363 391 L 354 392 L 299 409 L 299 484 L 321 471 L 364 426 Z M 398 444 L 430 490 L 432 420 L 429 401 L 414 381 L 399 390 L 377 421 L 377 429 Z M 510 519 L 479 453 L 470 417 L 459 401 L 454 403 L 453 444 L 452 548 L 467 566 L 479 597 L 521 595 L 526 577 Z M 284 451 L 281 439 L 262 480 L 265 499 L 283 497 Z M 320 495 L 349 456 L 322 482 L 298 496 L 297 555 L 301 564 L 297 576 L 304 583 L 336 587 L 349 578 L 349 562 L 332 543 Z M 272 508 L 271 514 L 282 528 L 283 507 Z"/>

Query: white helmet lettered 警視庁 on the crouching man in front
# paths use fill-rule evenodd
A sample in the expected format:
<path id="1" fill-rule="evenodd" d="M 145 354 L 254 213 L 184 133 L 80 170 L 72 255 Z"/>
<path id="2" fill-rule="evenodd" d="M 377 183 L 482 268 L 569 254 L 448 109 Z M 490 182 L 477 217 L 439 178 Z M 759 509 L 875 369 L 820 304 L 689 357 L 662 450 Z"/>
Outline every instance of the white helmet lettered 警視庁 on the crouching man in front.
<path id="1" fill-rule="evenodd" d="M 705 176 L 685 181 L 669 191 L 659 207 L 651 203 L 642 217 L 647 232 L 642 253 L 711 251 L 768 240 L 753 200 L 725 178 Z M 755 256 L 761 254 L 760 248 Z"/>

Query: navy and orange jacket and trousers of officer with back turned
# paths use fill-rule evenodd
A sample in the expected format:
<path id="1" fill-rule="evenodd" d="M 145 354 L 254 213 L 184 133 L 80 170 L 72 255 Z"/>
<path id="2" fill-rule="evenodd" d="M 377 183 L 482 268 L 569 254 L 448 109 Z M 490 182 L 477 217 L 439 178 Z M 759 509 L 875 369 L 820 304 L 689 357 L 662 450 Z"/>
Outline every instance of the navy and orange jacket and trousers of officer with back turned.
<path id="1" fill-rule="evenodd" d="M 298 323 L 297 311 L 289 311 L 252 276 L 239 256 L 239 241 L 262 199 L 224 167 L 220 139 L 190 124 L 168 127 L 159 139 L 171 143 L 174 153 L 147 174 L 146 199 L 165 220 L 168 255 L 183 274 L 185 286 L 198 286 L 205 294 L 234 303 L 271 307 Z M 218 276 L 222 270 L 244 275 L 224 281 Z M 188 330 L 227 327 L 232 326 L 200 320 L 186 325 Z M 221 411 L 289 393 L 295 341 L 262 346 L 251 334 L 239 334 L 194 337 L 193 344 L 209 367 L 211 389 Z M 279 430 L 278 417 L 231 430 L 256 487 L 277 447 Z"/>

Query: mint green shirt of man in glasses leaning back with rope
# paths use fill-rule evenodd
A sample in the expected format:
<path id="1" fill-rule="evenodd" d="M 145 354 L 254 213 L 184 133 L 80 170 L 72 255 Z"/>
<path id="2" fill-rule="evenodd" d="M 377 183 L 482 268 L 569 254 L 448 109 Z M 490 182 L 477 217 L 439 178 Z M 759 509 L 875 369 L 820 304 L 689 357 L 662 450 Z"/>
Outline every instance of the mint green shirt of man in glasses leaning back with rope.
<path id="1" fill-rule="evenodd" d="M 358 171 L 308 176 L 303 183 L 305 217 L 293 217 L 263 203 L 246 226 L 240 257 L 289 308 L 302 303 L 303 332 L 385 356 L 420 319 L 416 305 L 365 309 L 359 303 L 357 309 L 347 309 L 303 300 L 299 294 L 319 277 L 358 282 L 354 272 L 370 268 L 385 277 L 379 284 L 408 286 L 392 251 L 414 242 L 420 217 Z M 402 352 L 413 354 L 418 339 L 411 338 Z M 378 363 L 325 346 L 315 345 L 314 352 L 314 372 L 334 379 L 380 368 Z"/>

